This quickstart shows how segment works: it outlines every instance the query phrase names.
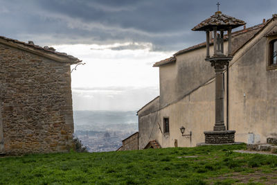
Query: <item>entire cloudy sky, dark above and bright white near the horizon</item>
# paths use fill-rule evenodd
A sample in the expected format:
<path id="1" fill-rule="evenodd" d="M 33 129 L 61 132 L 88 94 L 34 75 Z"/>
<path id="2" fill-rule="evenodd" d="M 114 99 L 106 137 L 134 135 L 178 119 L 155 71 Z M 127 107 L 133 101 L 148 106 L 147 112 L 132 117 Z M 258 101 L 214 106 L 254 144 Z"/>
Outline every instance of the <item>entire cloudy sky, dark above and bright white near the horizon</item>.
<path id="1" fill-rule="evenodd" d="M 204 41 L 193 32 L 214 0 L 0 0 L 0 35 L 53 46 L 83 60 L 72 73 L 73 109 L 137 110 L 159 95 L 152 64 Z M 222 0 L 220 10 L 260 24 L 276 0 Z"/>

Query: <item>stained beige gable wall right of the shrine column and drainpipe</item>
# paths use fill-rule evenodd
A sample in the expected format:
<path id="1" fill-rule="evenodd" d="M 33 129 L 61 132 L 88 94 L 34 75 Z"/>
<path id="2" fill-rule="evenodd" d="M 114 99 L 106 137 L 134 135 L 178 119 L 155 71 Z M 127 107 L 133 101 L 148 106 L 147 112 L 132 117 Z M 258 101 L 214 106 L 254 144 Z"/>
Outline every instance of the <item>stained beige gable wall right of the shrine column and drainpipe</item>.
<path id="1" fill-rule="evenodd" d="M 265 28 L 232 60 L 230 68 L 230 129 L 236 141 L 255 143 L 277 136 L 277 71 L 267 71 L 268 40 Z M 276 37 L 277 38 L 277 37 Z"/>

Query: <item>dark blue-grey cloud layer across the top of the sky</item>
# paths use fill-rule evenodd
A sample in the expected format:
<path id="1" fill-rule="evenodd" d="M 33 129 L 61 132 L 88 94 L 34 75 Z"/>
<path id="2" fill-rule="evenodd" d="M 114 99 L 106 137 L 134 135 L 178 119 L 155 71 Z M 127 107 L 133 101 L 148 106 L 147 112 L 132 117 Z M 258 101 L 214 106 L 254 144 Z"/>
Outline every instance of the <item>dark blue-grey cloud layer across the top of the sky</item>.
<path id="1" fill-rule="evenodd" d="M 151 42 L 154 51 L 177 51 L 204 41 L 190 29 L 215 12 L 217 1 L 0 0 L 0 35 L 51 44 Z M 221 1 L 222 12 L 259 24 L 277 2 Z M 114 50 L 136 49 L 120 46 Z"/>

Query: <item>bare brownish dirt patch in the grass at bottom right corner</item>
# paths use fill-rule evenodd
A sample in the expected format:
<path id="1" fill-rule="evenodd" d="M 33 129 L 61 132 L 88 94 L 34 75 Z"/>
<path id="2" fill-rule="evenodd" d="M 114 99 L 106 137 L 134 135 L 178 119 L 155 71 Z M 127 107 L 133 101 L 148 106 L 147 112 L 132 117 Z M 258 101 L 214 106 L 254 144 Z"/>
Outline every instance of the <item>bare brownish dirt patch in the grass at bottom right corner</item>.
<path id="1" fill-rule="evenodd" d="M 277 171 L 271 173 L 263 173 L 256 171 L 255 173 L 229 173 L 222 177 L 208 179 L 211 184 L 277 184 Z"/>

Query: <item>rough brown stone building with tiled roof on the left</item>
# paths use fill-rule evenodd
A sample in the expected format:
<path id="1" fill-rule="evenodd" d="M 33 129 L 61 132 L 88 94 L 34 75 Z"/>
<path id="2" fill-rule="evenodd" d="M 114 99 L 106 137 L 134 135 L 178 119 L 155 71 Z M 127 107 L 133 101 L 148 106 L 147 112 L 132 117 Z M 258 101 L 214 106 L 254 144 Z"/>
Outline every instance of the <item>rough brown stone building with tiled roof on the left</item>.
<path id="1" fill-rule="evenodd" d="M 72 147 L 71 64 L 53 48 L 0 37 L 0 153 Z"/>

